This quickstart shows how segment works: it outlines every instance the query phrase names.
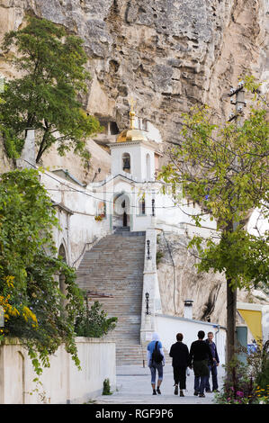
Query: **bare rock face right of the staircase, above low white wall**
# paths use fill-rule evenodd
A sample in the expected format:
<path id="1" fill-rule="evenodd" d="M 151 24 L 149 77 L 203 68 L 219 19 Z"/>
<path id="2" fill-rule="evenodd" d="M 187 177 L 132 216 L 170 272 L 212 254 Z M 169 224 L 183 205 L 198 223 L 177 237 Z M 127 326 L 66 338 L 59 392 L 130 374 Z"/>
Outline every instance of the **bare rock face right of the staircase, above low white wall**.
<path id="1" fill-rule="evenodd" d="M 157 237 L 160 256 L 157 277 L 162 311 L 183 317 L 184 300 L 193 300 L 193 319 L 210 319 L 226 327 L 225 275 L 198 274 L 194 266 L 198 260 L 187 249 L 189 240 L 184 235 L 163 232 Z M 238 290 L 238 302 L 268 303 L 260 292 L 246 290 Z"/>

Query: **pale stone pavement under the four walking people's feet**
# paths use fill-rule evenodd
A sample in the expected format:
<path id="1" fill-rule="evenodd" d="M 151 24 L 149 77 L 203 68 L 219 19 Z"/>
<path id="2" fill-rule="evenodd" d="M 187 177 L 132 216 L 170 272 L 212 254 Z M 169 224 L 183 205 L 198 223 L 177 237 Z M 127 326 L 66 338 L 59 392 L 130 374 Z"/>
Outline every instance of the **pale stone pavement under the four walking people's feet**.
<path id="1" fill-rule="evenodd" d="M 224 377 L 224 369 L 218 367 L 219 390 Z M 205 398 L 193 395 L 194 374 L 187 376 L 184 397 L 174 394 L 172 365 L 164 367 L 164 380 L 161 395 L 152 395 L 150 371 L 141 365 L 117 366 L 117 389 L 112 395 L 100 395 L 94 399 L 95 404 L 214 404 L 214 393 L 205 393 Z"/>

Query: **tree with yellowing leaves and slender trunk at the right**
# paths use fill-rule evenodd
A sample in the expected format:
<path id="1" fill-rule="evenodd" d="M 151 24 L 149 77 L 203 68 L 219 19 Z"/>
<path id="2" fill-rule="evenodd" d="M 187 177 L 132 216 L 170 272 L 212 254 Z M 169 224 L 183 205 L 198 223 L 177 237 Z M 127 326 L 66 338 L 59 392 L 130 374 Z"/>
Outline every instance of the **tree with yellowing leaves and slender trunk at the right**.
<path id="1" fill-rule="evenodd" d="M 256 93 L 248 78 L 247 88 Z M 220 238 L 194 237 L 200 271 L 224 272 L 227 280 L 228 358 L 234 354 L 235 321 L 230 296 L 242 287 L 268 284 L 268 231 L 264 238 L 245 230 L 249 211 L 263 209 L 268 216 L 268 123 L 265 110 L 253 98 L 247 119 L 238 127 L 220 124 L 208 106 L 183 114 L 179 145 L 168 151 L 169 163 L 160 172 L 169 184 L 182 184 L 184 196 L 198 202 L 203 214 L 217 221 Z M 201 225 L 202 213 L 193 216 Z M 235 228 L 235 223 L 237 227 Z M 229 325 L 232 323 L 232 325 Z"/>

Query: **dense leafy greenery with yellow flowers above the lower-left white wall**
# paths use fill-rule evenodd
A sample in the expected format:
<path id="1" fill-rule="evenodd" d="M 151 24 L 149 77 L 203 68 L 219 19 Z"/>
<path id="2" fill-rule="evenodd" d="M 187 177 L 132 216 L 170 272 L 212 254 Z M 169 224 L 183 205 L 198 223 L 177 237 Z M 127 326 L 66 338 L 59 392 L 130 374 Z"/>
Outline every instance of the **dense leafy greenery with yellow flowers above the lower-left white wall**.
<path id="1" fill-rule="evenodd" d="M 36 170 L 0 179 L 0 305 L 3 337 L 20 338 L 38 374 L 62 343 L 79 366 L 76 315 L 84 310 L 75 270 L 57 256 L 52 229 L 58 220 Z M 67 293 L 56 275 L 65 275 Z M 65 300 L 65 301 L 63 301 Z"/>

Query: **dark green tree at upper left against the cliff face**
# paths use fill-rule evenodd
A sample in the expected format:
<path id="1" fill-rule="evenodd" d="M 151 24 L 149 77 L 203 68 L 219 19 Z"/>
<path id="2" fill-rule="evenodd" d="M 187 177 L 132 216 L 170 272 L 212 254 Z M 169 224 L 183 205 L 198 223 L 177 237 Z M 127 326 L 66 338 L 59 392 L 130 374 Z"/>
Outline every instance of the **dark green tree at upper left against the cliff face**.
<path id="1" fill-rule="evenodd" d="M 55 143 L 60 155 L 73 149 L 88 159 L 85 139 L 101 128 L 78 100 L 90 78 L 83 40 L 45 19 L 29 17 L 25 28 L 5 34 L 2 48 L 15 50 L 11 60 L 21 75 L 6 83 L 0 103 L 7 153 L 18 157 L 25 130 L 32 128 L 37 134 L 37 163 Z"/>

